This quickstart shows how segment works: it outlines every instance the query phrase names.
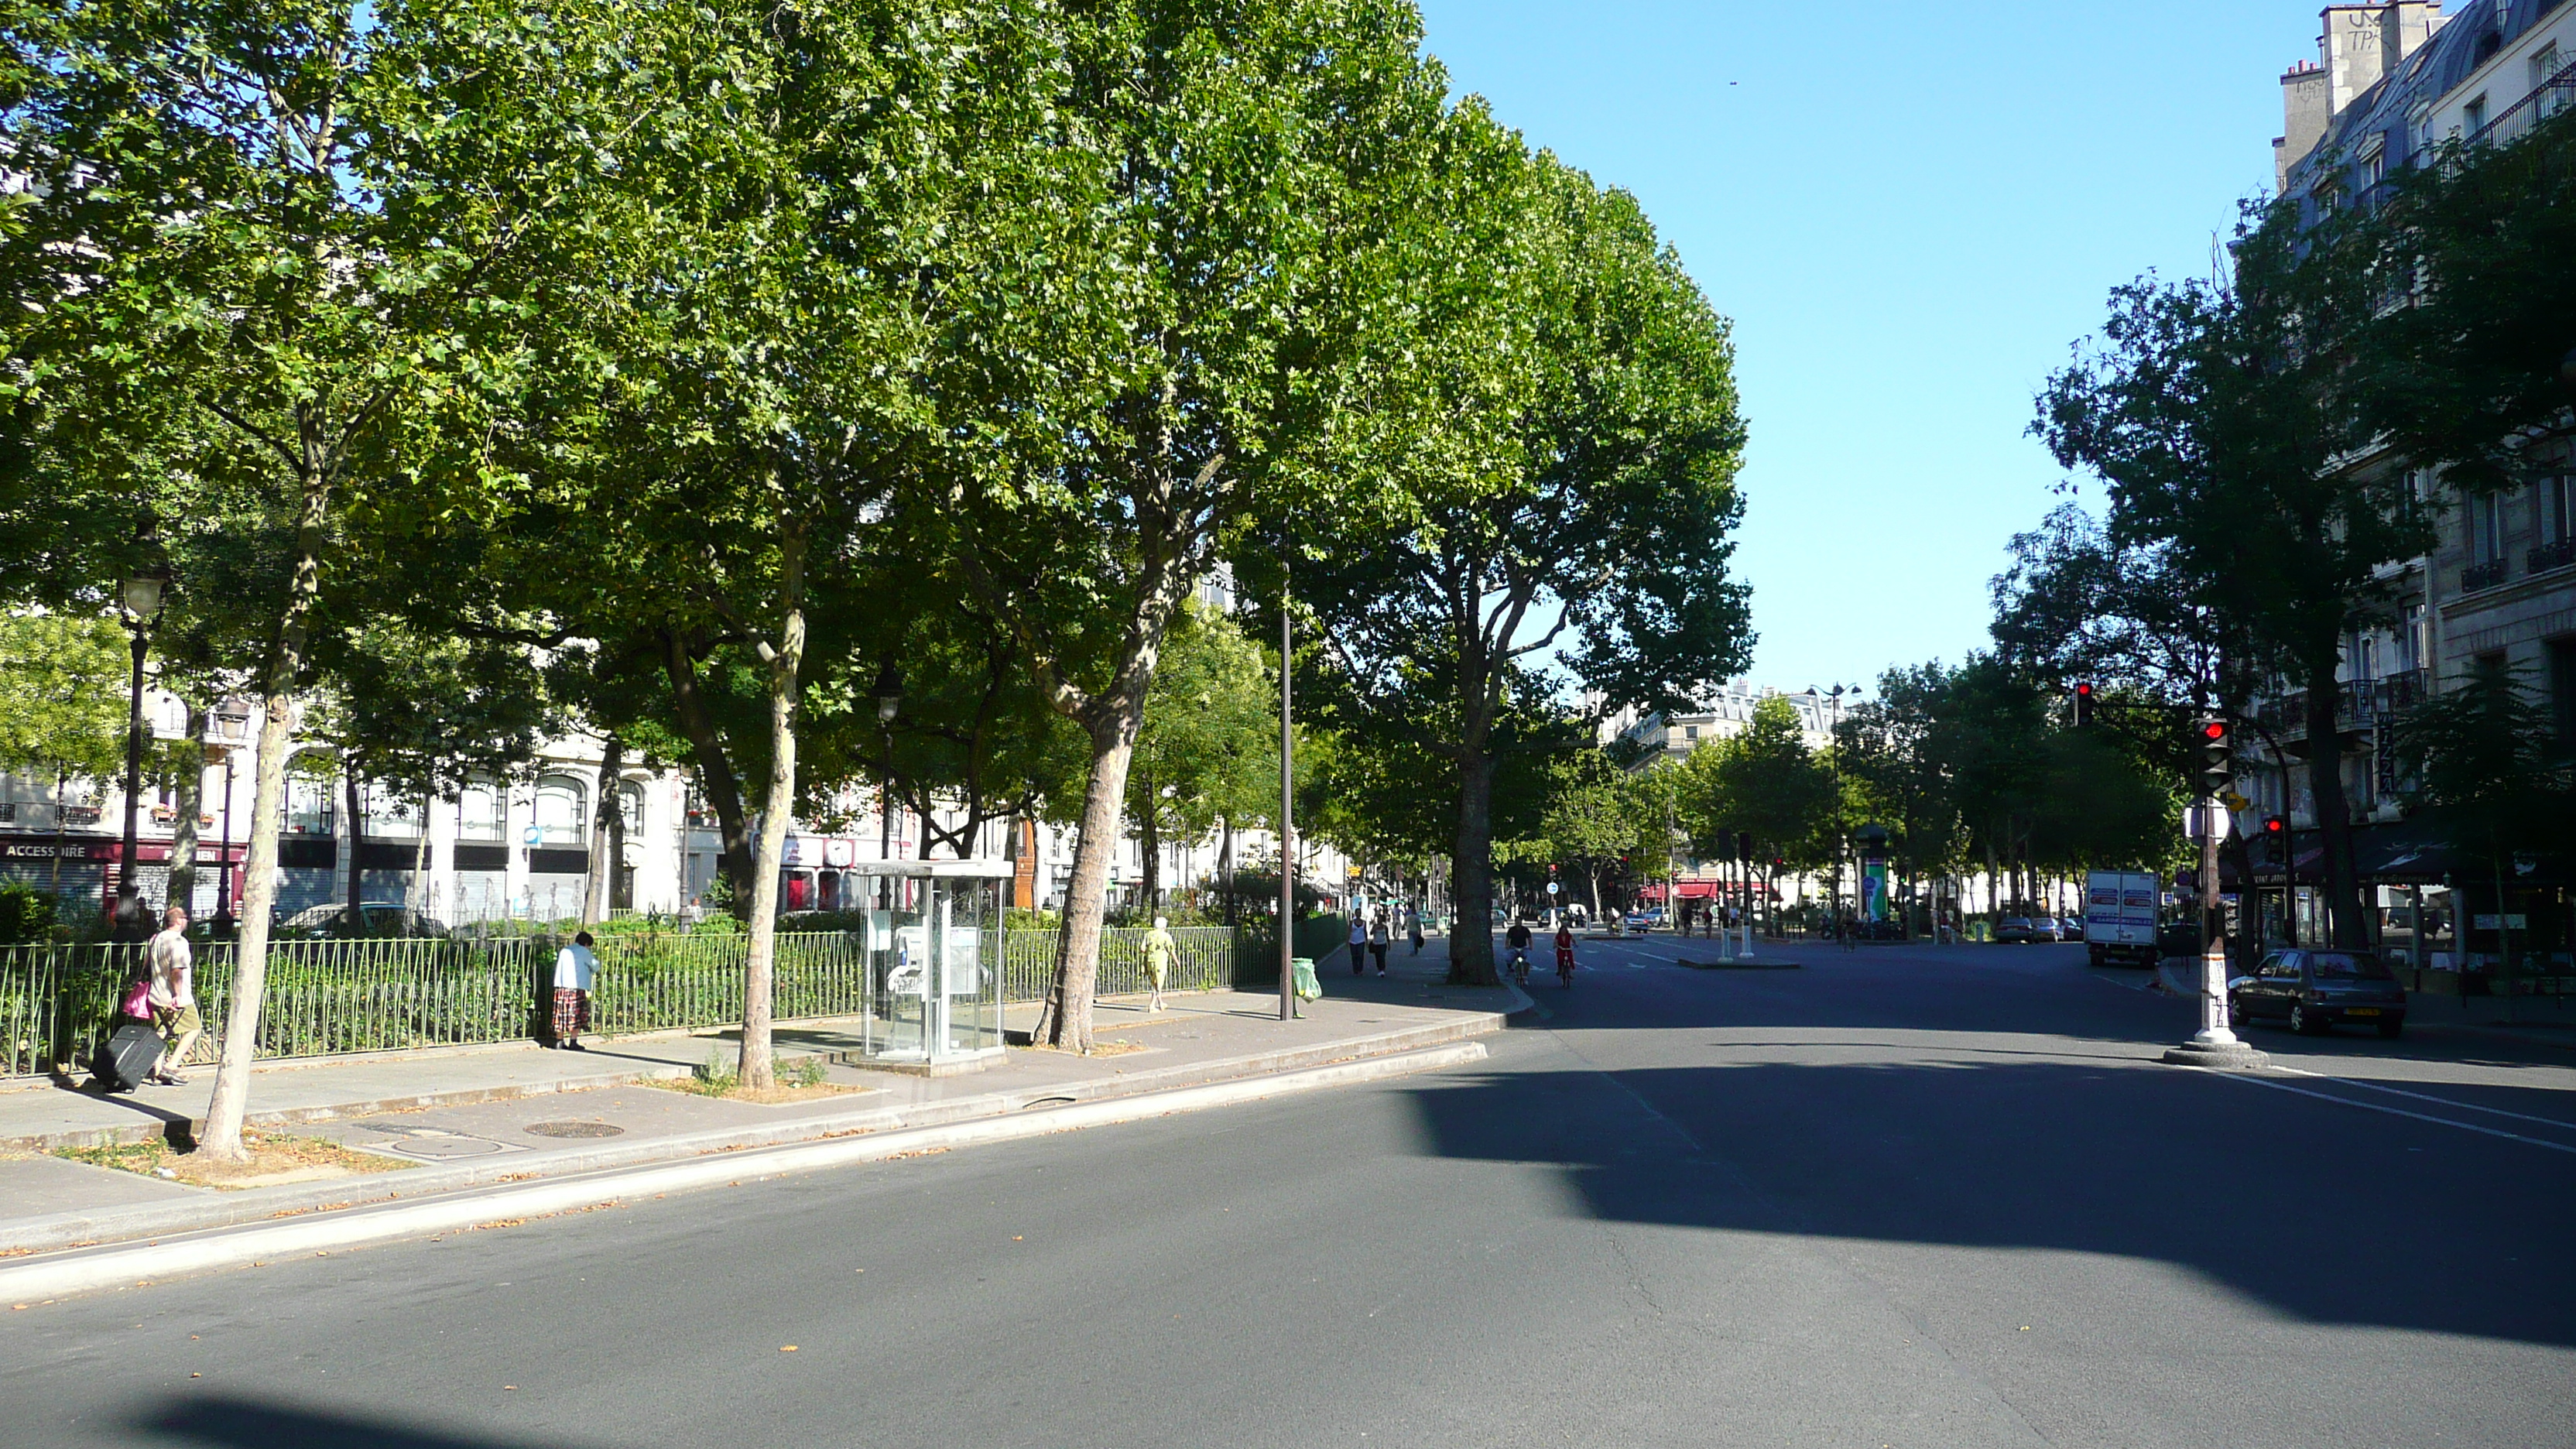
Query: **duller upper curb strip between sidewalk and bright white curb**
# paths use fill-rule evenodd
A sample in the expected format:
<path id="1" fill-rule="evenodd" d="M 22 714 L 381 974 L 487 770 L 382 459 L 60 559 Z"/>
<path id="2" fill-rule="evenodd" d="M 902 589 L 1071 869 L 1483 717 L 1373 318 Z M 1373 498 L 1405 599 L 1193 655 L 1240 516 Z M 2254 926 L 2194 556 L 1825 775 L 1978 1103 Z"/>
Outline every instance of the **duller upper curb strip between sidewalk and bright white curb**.
<path id="1" fill-rule="evenodd" d="M 1059 1104 L 1072 1098 L 1074 1106 L 1090 1106 L 1090 1104 L 1133 1098 L 1154 1091 L 1224 1085 L 1244 1078 L 1257 1080 L 1278 1073 L 1298 1073 L 1311 1067 L 1329 1067 L 1337 1062 L 1419 1052 L 1427 1047 L 1443 1047 L 1453 1042 L 1466 1042 L 1468 1036 L 1502 1031 L 1502 1026 L 1504 1026 L 1504 1013 L 1473 1011 L 1473 1013 L 1458 1013 L 1453 1021 L 1412 1026 L 1404 1031 L 1383 1031 L 1376 1036 L 1345 1036 L 1342 1042 L 1321 1042 L 1314 1047 L 1296 1047 L 1285 1052 L 1255 1052 L 1247 1057 L 1224 1057 L 1216 1062 L 1182 1062 L 1170 1067 L 1126 1073 L 1121 1078 L 1095 1080 L 1095 1083 L 1056 1083 L 1056 1085 L 1038 1083 L 1015 1091 L 961 1096 L 914 1109 L 873 1106 L 827 1116 L 799 1116 L 793 1122 L 778 1122 L 768 1127 L 693 1132 L 685 1137 L 649 1137 L 641 1142 L 551 1152 L 544 1158 L 544 1165 L 536 1168 L 536 1173 L 546 1178 L 559 1178 L 567 1173 L 634 1168 L 672 1158 L 698 1158 L 706 1152 L 747 1152 L 788 1142 L 806 1142 L 814 1137 L 884 1134 L 884 1132 L 904 1132 L 920 1127 L 945 1127 L 971 1119 L 1018 1116 L 1041 1101 Z M 59 1212 L 52 1217 L 28 1217 L 21 1222 L 0 1225 L 0 1232 L 5 1232 L 5 1240 L 0 1240 L 0 1253 L 80 1248 L 93 1243 L 121 1243 L 134 1238 L 170 1238 L 178 1232 L 237 1227 L 250 1222 L 268 1222 L 276 1217 L 299 1217 L 309 1212 L 348 1212 L 368 1204 L 484 1189 L 500 1181 L 526 1178 L 528 1173 L 531 1163 L 526 1158 L 502 1155 L 502 1158 L 477 1158 L 471 1163 L 459 1163 L 446 1168 L 407 1168 L 407 1171 L 358 1176 L 358 1178 L 330 1178 L 319 1183 L 229 1191 L 214 1199 L 155 1201 L 139 1207 L 90 1209 L 90 1212 Z"/>

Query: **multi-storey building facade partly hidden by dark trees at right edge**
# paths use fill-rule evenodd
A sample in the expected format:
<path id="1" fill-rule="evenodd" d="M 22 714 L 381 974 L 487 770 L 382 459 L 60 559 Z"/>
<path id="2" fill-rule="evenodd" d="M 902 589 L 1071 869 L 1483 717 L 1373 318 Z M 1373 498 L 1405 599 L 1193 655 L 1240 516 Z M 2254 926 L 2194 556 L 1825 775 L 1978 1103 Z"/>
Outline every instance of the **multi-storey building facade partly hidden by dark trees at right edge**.
<path id="1" fill-rule="evenodd" d="M 2272 142 L 2280 193 L 2311 214 L 2367 206 L 2391 175 L 2427 165 L 2447 144 L 2509 144 L 2576 106 L 2576 5 L 2473 0 L 2455 13 L 2429 0 L 2329 5 L 2316 62 L 2290 67 L 2280 88 L 2282 134 Z M 2514 438 L 2514 449 L 2522 482 L 2473 498 L 2455 498 L 2439 477 L 2385 449 L 2344 459 L 2354 480 L 2401 482 L 2434 521 L 2437 544 L 2380 570 L 2393 603 L 2344 639 L 2331 745 L 2306 737 L 2303 694 L 2257 709 L 2257 755 L 2241 781 L 2246 815 L 2280 815 L 2290 828 L 2280 848 L 2257 859 L 2267 936 L 2324 931 L 2321 846 L 2300 830 L 2316 825 L 2306 761 L 2331 748 L 2362 822 L 2357 866 L 2396 957 L 2421 969 L 2476 969 L 2496 949 L 2499 915 L 2535 931 L 2532 946 L 2566 957 L 2566 890 L 2530 882 L 2501 913 L 2494 890 L 2478 905 L 2476 884 L 2455 882 L 2455 861 L 2401 822 L 2409 781 L 2391 748 L 2391 724 L 2406 709 L 2481 670 L 2509 670 L 2540 688 L 2561 740 L 2576 745 L 2576 428 L 2561 420 Z M 2465 920 L 2455 905 L 2463 884 Z M 2421 985 L 2458 987 L 2455 977 Z"/>

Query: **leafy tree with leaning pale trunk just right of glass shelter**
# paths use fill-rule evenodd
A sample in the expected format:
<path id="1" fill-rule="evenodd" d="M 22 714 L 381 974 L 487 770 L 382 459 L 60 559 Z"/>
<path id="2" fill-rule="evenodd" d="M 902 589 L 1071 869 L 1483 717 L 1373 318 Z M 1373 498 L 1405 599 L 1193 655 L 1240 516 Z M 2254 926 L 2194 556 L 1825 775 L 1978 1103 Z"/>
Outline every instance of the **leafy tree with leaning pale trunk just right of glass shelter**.
<path id="1" fill-rule="evenodd" d="M 1437 111 L 1401 0 L 1064 13 L 1046 188 L 961 281 L 920 508 L 1090 745 L 1038 1039 L 1087 1049 L 1110 853 L 1164 637 L 1247 521 L 1329 511 L 1381 175 Z"/>

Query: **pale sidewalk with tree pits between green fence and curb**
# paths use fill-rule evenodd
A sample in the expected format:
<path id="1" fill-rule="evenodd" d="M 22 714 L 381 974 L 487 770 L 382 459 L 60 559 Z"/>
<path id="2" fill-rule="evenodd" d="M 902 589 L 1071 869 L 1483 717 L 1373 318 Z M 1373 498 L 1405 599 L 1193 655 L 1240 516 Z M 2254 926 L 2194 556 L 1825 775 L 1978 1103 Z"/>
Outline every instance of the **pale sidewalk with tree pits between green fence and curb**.
<path id="1" fill-rule="evenodd" d="M 829 1065 L 832 1083 L 858 1091 L 775 1106 L 639 1085 L 685 1078 L 711 1052 L 732 1057 L 734 1031 L 611 1039 L 590 1052 L 492 1047 L 273 1065 L 252 1078 L 252 1124 L 381 1155 L 389 1171 L 258 1189 L 185 1186 L 49 1152 L 185 1129 L 206 1106 L 211 1073 L 185 1088 L 137 1093 L 139 1101 L 0 1091 L 0 1142 L 13 1147 L 0 1158 L 0 1253 L 167 1238 L 394 1196 L 1293 1073 L 1481 1036 L 1528 1006 L 1510 987 L 1440 985 L 1445 959 L 1432 951 L 1399 954 L 1394 964 L 1383 980 L 1327 969 L 1324 1000 L 1306 1003 L 1298 1021 L 1278 1021 L 1275 995 L 1170 995 L 1162 1013 L 1146 1013 L 1141 998 L 1118 998 L 1097 1006 L 1103 1049 L 1090 1057 L 1015 1047 L 994 1067 L 953 1078 Z M 1007 1016 L 1023 1029 L 1033 1008 Z M 829 1060 L 853 1026 L 781 1024 L 781 1057 Z"/>

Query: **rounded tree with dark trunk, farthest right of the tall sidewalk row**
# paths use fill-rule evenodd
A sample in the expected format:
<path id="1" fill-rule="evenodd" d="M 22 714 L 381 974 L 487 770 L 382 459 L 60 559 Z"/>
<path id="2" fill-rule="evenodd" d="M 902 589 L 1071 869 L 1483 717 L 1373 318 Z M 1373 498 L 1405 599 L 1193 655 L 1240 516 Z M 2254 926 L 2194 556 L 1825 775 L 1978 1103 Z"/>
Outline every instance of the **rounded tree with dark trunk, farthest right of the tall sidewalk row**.
<path id="1" fill-rule="evenodd" d="M 1455 900 L 1479 920 L 1502 761 L 1582 737 L 1540 657 L 1597 712 L 1682 706 L 1741 663 L 1726 531 L 1744 428 L 1726 322 L 1636 199 L 1471 106 L 1422 186 L 1412 330 L 1368 374 L 1399 443 L 1376 451 L 1386 505 L 1291 531 L 1288 585 L 1329 642 L 1337 724 L 1455 768 Z M 1494 980 L 1492 946 L 1453 933 L 1453 977 Z"/>

